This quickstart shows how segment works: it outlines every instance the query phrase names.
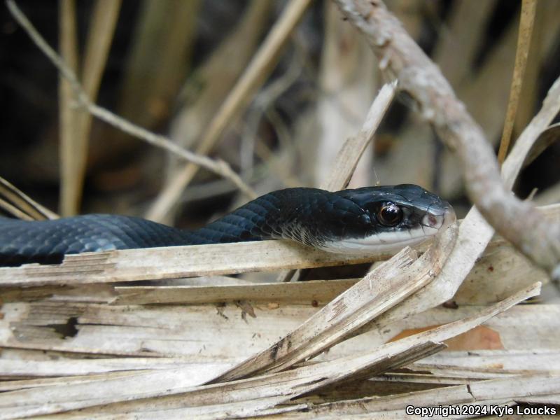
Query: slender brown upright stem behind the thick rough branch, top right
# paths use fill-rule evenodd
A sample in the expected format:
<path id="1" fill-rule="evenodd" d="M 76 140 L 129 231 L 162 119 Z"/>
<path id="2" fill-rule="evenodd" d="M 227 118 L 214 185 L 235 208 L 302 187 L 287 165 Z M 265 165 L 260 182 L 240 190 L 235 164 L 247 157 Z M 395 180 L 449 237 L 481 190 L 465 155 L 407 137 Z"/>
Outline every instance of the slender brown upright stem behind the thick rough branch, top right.
<path id="1" fill-rule="evenodd" d="M 523 86 L 529 47 L 531 46 L 531 34 L 533 34 L 536 9 L 537 0 L 523 0 L 521 3 L 521 20 L 519 20 L 519 36 L 517 37 L 517 52 L 515 53 L 510 101 L 507 103 L 502 140 L 500 141 L 500 150 L 498 151 L 498 162 L 500 164 L 505 159 L 507 150 L 510 148 L 510 139 L 515 124 L 517 106 L 519 106 L 519 97 L 521 95 L 521 87 Z"/>

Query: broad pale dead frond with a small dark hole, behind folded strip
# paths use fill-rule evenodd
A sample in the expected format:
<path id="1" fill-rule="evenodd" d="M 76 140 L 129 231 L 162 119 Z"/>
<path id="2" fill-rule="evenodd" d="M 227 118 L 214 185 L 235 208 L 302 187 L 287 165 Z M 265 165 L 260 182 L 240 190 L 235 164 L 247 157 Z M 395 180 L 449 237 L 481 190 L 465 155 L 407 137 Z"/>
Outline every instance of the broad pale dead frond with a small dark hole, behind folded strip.
<path id="1" fill-rule="evenodd" d="M 382 330 L 346 340 L 319 357 L 330 360 L 368 351 L 403 330 L 456 321 L 480 309 L 430 309 Z M 29 353 L 26 360 L 42 360 L 41 351 L 57 351 L 61 358 L 76 358 L 76 354 L 83 353 L 88 357 L 173 356 L 190 362 L 217 363 L 244 360 L 267 349 L 318 308 L 311 304 L 253 304 L 255 318 L 250 314 L 243 316 L 243 310 L 235 304 L 145 308 L 33 302 L 4 304 L 2 311 L 0 346 L 7 358 L 22 358 Z M 56 334 L 53 328 L 66 325 L 72 316 L 77 317 L 77 335 L 63 338 Z M 486 327 L 506 349 L 556 349 L 560 342 L 559 320 L 558 305 L 521 305 L 491 319 Z"/>

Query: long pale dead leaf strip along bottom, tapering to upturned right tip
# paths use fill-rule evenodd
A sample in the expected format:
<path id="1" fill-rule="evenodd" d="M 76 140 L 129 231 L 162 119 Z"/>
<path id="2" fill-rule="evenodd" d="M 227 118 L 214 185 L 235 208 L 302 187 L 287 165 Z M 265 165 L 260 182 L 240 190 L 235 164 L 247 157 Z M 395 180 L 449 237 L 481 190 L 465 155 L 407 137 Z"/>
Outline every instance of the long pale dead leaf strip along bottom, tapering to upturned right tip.
<path id="1" fill-rule="evenodd" d="M 367 353 L 339 358 L 330 362 L 299 367 L 288 372 L 202 387 L 189 386 L 189 384 L 200 381 L 201 375 L 208 374 L 208 370 L 198 372 L 196 377 L 186 377 L 185 372 L 180 374 L 181 372 L 174 370 L 172 372 L 142 373 L 111 381 L 90 381 L 86 384 L 76 384 L 71 388 L 64 388 L 64 393 L 61 392 L 59 386 L 52 386 L 48 390 L 30 388 L 0 395 L 0 407 L 3 408 L 1 415 L 2 418 L 8 419 L 150 397 L 159 398 L 141 399 L 136 402 L 113 404 L 104 408 L 96 407 L 95 409 L 98 413 L 116 414 L 123 412 L 121 410 L 130 413 L 143 411 L 144 409 L 188 407 L 183 413 L 195 416 L 197 415 L 197 409 L 202 414 L 204 408 L 209 405 L 239 401 L 246 402 L 241 407 L 249 410 L 249 412 L 252 408 L 265 409 L 324 386 L 384 372 L 427 356 L 429 353 L 442 349 L 442 344 L 439 343 L 442 340 L 470 330 L 470 328 L 487 321 L 501 311 L 505 311 L 520 300 L 538 294 L 539 288 L 540 286 L 536 284 L 520 290 L 512 297 L 482 310 L 475 316 L 442 325 L 397 342 L 385 344 L 373 351 L 370 350 Z M 139 377 L 145 375 L 153 378 L 153 380 L 134 380 L 135 377 L 139 379 Z M 158 378 L 162 382 L 156 380 Z M 174 393 L 176 395 L 172 395 Z M 92 395 L 94 395 L 93 398 Z M 163 395 L 167 396 L 163 397 Z M 269 404 L 262 405 L 262 398 L 272 398 L 272 401 Z M 197 406 L 197 408 L 193 406 Z M 232 407 L 227 407 L 227 412 L 228 416 L 239 413 L 235 410 L 232 411 Z M 81 414 L 87 415 L 87 411 Z"/>

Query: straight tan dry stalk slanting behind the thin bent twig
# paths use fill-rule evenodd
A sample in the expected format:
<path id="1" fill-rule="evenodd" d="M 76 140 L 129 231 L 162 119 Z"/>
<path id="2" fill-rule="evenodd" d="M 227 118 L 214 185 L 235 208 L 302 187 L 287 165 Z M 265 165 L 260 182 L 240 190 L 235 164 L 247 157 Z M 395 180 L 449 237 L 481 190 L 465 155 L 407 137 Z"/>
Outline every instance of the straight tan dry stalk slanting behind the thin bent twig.
<path id="1" fill-rule="evenodd" d="M 216 116 L 209 123 L 209 127 L 204 132 L 197 147 L 197 153 L 206 154 L 214 148 L 225 128 L 232 123 L 235 116 L 246 108 L 252 95 L 262 83 L 265 83 L 279 59 L 283 46 L 286 45 L 293 29 L 300 22 L 309 3 L 311 3 L 311 0 L 290 0 L 286 5 L 281 17 L 260 45 L 246 71 L 241 75 L 228 97 L 225 98 Z M 148 211 L 147 217 L 153 221 L 161 221 L 174 203 L 179 200 L 181 193 L 197 171 L 197 165 L 188 164 L 183 167 L 173 183 L 169 183 L 165 190 L 160 193 L 158 199 L 155 200 L 150 211 Z"/>

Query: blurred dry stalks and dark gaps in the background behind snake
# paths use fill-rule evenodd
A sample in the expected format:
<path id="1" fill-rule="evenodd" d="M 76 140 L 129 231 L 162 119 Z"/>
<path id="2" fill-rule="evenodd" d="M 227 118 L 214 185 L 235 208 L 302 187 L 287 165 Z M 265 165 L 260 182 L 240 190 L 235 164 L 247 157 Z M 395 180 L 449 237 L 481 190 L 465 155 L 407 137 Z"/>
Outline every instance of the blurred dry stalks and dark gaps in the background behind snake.
<path id="1" fill-rule="evenodd" d="M 437 62 L 497 150 L 520 1 L 386 3 Z M 18 4 L 50 45 L 62 51 L 97 104 L 195 150 L 288 2 Z M 560 73 L 559 16 L 560 1 L 538 1 L 513 139 Z M 0 34 L 0 176 L 25 193 L 64 215 L 130 214 L 188 228 L 247 200 L 229 181 L 201 170 L 177 200 L 167 200 L 164 211 L 161 206 L 155 211 L 183 163 L 106 123 L 88 122 L 64 99 L 57 70 L 5 6 Z M 318 0 L 311 2 L 269 69 L 208 154 L 229 162 L 259 194 L 318 186 L 344 139 L 361 127 L 383 75 L 369 47 L 335 6 Z M 69 118 L 61 116 L 61 109 L 69 110 Z M 460 216 L 469 206 L 456 160 L 412 112 L 405 95 L 391 107 L 351 186 L 372 185 L 377 179 L 433 190 L 450 200 Z M 538 188 L 540 200 L 554 202 L 560 199 L 559 182 L 556 144 L 524 170 L 516 190 L 526 197 Z"/>

